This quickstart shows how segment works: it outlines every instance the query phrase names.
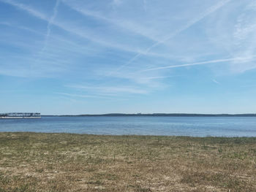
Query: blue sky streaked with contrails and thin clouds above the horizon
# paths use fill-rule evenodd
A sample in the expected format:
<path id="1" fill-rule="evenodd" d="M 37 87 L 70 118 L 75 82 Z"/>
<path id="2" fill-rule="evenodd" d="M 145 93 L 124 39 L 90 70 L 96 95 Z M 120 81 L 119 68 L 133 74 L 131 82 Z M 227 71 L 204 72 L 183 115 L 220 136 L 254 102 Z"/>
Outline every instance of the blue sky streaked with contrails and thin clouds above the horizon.
<path id="1" fill-rule="evenodd" d="M 0 112 L 256 113 L 256 1 L 0 0 Z"/>

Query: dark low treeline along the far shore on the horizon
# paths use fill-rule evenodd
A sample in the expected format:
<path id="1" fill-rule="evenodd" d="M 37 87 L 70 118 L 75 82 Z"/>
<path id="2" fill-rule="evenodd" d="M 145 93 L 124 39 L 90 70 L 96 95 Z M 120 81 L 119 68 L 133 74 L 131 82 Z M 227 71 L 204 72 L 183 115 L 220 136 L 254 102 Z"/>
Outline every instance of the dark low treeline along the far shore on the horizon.
<path id="1" fill-rule="evenodd" d="M 126 113 L 108 113 L 101 115 L 42 115 L 42 117 L 118 117 L 118 116 L 146 116 L 146 117 L 256 117 L 256 114 L 193 114 L 193 113 L 135 113 L 135 114 L 126 114 Z"/>

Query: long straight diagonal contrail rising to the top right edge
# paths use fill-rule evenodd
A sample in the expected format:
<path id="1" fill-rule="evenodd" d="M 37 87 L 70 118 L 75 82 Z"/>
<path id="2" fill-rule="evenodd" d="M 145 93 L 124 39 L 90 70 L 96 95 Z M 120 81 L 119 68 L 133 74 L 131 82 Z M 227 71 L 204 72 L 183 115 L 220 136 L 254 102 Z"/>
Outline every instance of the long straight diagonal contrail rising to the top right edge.
<path id="1" fill-rule="evenodd" d="M 206 16 L 210 15 L 213 12 L 216 12 L 218 9 L 220 9 L 225 4 L 227 4 L 229 1 L 230 0 L 221 1 L 218 4 L 210 7 L 209 9 L 206 10 L 206 12 L 201 13 L 197 18 L 194 18 L 194 19 L 190 20 L 189 23 L 187 23 L 183 28 L 179 28 L 178 30 L 174 31 L 172 34 L 168 35 L 167 37 L 165 37 L 161 41 L 154 43 L 153 45 L 148 47 L 143 53 L 138 53 L 137 55 L 135 55 L 133 58 L 131 58 L 127 62 L 127 64 L 124 64 L 124 65 L 120 66 L 114 72 L 118 72 L 124 66 L 127 66 L 127 65 L 131 64 L 133 61 L 135 61 L 137 58 L 139 58 L 140 55 L 146 55 L 149 52 L 149 50 L 151 50 L 153 47 L 156 47 L 157 45 L 160 45 L 160 44 L 166 42 L 167 40 L 172 39 L 173 37 L 175 37 L 177 34 L 181 33 L 182 31 L 187 30 L 187 28 L 190 28 L 191 26 L 195 25 L 195 23 L 199 22 L 200 20 L 203 20 L 203 18 L 206 18 Z M 110 74 L 113 74 L 114 72 L 110 72 Z"/>

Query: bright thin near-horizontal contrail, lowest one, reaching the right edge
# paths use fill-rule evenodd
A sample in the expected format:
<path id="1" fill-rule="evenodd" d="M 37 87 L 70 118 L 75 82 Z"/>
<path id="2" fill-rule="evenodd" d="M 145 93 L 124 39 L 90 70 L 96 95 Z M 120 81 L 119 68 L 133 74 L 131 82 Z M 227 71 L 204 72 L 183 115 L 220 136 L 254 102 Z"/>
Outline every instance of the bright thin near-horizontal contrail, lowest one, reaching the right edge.
<path id="1" fill-rule="evenodd" d="M 156 67 L 156 68 L 151 68 L 151 69 L 145 69 L 145 70 L 143 70 L 143 72 L 155 71 L 155 70 L 160 70 L 160 69 L 178 68 L 178 67 L 184 67 L 184 66 L 195 66 L 195 65 L 203 65 L 203 64 L 217 64 L 217 63 L 227 62 L 227 61 L 252 61 L 252 60 L 254 60 L 254 58 L 255 58 L 255 56 L 250 57 L 250 58 L 225 58 L 225 59 L 217 59 L 217 60 L 211 60 L 211 61 L 197 62 L 197 63 L 194 63 L 194 64 L 161 66 L 161 67 Z"/>

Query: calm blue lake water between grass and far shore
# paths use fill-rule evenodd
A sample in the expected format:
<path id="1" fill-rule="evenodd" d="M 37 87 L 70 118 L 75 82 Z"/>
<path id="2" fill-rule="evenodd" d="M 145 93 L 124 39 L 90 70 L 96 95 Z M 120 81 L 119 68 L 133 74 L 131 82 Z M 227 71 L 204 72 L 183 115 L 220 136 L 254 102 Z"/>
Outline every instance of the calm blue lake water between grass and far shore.
<path id="1" fill-rule="evenodd" d="M 256 137 L 251 117 L 48 117 L 0 119 L 0 131 Z"/>

